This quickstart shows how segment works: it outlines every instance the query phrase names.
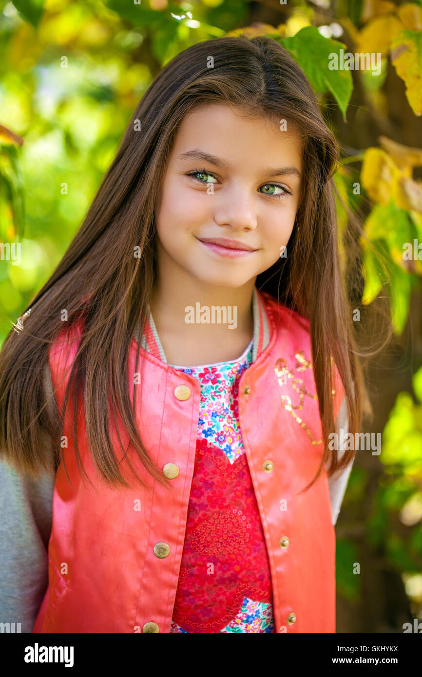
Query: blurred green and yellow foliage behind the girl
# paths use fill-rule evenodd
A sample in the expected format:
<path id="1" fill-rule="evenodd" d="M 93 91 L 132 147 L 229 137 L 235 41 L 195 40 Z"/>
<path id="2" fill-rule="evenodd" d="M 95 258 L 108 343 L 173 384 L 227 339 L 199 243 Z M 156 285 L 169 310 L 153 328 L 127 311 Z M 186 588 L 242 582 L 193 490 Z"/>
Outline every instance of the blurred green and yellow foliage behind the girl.
<path id="1" fill-rule="evenodd" d="M 381 454 L 357 453 L 336 525 L 337 632 L 403 632 L 422 618 L 422 0 L 0 0 L 0 341 L 152 79 L 189 45 L 240 32 L 272 35 L 305 70 L 341 144 L 339 194 L 387 261 L 392 287 L 364 246 L 364 303 L 389 294 L 395 339 L 369 374 L 364 431 L 383 431 Z M 346 52 L 380 68 L 327 68 Z"/>

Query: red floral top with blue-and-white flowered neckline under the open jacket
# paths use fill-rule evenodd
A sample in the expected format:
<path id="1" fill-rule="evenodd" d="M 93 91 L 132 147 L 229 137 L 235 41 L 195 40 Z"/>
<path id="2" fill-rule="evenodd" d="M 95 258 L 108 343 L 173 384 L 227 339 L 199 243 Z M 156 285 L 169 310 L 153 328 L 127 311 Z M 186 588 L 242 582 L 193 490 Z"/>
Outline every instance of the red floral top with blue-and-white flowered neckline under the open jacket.
<path id="1" fill-rule="evenodd" d="M 274 632 L 270 563 L 238 425 L 232 362 L 177 367 L 201 382 L 194 475 L 170 632 Z"/>

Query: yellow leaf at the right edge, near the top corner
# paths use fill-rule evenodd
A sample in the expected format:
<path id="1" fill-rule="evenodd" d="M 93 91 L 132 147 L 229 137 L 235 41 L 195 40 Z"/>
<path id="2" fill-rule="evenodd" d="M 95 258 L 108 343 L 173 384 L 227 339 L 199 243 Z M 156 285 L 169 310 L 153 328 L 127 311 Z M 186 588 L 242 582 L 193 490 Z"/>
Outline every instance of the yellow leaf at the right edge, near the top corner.
<path id="1" fill-rule="evenodd" d="M 404 80 L 415 115 L 422 114 L 422 32 L 403 30 L 392 41 L 392 63 Z"/>

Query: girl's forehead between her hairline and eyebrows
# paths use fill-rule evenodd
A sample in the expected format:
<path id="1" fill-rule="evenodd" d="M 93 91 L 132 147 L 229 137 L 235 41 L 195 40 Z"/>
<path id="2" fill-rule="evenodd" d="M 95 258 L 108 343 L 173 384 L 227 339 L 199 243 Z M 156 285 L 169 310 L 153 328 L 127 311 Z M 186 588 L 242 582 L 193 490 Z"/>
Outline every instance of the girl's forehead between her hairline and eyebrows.
<path id="1" fill-rule="evenodd" d="M 188 112 L 180 124 L 172 159 L 192 148 L 201 148 L 226 160 L 228 165 L 253 165 L 258 170 L 259 166 L 289 159 L 301 169 L 301 136 L 295 123 L 282 121 L 278 114 L 270 119 L 252 117 L 234 106 L 201 104 Z"/>

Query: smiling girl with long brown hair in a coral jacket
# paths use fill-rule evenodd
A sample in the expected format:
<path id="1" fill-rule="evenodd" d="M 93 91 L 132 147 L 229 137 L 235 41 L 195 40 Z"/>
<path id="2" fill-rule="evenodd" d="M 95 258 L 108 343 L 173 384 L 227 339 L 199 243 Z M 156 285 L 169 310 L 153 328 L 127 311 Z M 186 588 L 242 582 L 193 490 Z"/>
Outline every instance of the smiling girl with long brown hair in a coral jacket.
<path id="1" fill-rule="evenodd" d="M 364 393 L 336 158 L 268 37 L 200 42 L 150 85 L 1 350 L 0 621 L 335 632 L 354 451 L 329 435 Z"/>

